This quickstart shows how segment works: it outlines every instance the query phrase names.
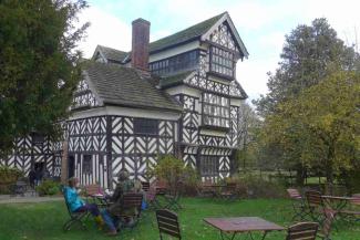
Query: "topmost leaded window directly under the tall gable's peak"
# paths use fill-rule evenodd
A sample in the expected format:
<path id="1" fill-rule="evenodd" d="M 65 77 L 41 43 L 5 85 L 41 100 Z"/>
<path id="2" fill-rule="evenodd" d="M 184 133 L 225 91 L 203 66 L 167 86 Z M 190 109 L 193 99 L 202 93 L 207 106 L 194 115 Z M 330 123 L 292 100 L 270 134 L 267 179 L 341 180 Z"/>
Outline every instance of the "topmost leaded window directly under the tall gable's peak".
<path id="1" fill-rule="evenodd" d="M 234 77 L 234 53 L 212 46 L 210 71 L 220 75 Z"/>

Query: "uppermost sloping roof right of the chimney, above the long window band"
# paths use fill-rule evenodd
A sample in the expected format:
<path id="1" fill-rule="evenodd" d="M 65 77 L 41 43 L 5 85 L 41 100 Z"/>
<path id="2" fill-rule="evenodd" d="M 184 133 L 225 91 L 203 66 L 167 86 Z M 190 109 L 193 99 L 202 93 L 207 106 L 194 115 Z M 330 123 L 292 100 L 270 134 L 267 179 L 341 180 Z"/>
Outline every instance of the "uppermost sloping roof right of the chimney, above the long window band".
<path id="1" fill-rule="evenodd" d="M 164 50 L 178 43 L 192 41 L 196 38 L 199 38 L 200 35 L 205 34 L 225 14 L 227 14 L 227 12 L 223 12 L 222 14 L 215 15 L 200 23 L 192 25 L 183 31 L 152 42 L 150 43 L 150 52 L 152 53 Z"/>

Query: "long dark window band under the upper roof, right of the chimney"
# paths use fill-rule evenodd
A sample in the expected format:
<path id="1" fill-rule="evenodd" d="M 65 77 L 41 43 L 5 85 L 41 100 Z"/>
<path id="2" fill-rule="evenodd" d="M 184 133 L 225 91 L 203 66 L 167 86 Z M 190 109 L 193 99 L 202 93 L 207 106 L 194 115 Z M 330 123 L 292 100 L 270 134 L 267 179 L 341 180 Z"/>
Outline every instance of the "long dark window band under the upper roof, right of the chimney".
<path id="1" fill-rule="evenodd" d="M 198 64 L 198 51 L 182 53 L 165 60 L 150 63 L 153 74 L 167 75 L 184 70 L 195 69 Z"/>

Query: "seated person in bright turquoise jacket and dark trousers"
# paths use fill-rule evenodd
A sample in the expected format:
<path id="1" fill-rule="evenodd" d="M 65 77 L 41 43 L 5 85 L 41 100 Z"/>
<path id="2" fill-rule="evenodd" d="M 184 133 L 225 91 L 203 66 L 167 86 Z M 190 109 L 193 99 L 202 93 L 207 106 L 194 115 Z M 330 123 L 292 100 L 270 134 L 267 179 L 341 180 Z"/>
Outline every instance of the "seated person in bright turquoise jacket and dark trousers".
<path id="1" fill-rule="evenodd" d="M 66 201 L 69 204 L 70 210 L 72 212 L 82 212 L 90 211 L 90 213 L 94 217 L 95 222 L 101 228 L 104 225 L 104 220 L 100 215 L 99 208 L 94 204 L 86 204 L 78 194 L 78 178 L 69 179 L 69 187 L 65 187 L 64 195 Z"/>

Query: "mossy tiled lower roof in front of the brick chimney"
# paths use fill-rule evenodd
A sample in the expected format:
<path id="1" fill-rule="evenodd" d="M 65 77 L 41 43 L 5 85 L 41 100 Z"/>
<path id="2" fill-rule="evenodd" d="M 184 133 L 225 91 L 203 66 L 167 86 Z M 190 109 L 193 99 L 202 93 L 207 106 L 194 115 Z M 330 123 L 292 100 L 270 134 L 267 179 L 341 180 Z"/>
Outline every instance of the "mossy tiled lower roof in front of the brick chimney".
<path id="1" fill-rule="evenodd" d="M 104 105 L 181 112 L 182 107 L 133 67 L 89 61 L 84 75 Z"/>

